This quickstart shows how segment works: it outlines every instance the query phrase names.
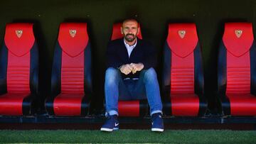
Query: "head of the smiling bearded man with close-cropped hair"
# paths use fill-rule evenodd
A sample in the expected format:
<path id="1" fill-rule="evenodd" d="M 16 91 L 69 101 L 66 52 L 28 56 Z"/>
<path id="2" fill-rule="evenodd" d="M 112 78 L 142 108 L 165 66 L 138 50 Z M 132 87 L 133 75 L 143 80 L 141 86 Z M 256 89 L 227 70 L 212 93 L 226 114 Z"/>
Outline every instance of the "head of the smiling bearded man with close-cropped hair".
<path id="1" fill-rule="evenodd" d="M 139 23 L 135 19 L 124 20 L 121 27 L 121 33 L 124 35 L 124 39 L 132 43 L 136 40 L 139 33 Z"/>

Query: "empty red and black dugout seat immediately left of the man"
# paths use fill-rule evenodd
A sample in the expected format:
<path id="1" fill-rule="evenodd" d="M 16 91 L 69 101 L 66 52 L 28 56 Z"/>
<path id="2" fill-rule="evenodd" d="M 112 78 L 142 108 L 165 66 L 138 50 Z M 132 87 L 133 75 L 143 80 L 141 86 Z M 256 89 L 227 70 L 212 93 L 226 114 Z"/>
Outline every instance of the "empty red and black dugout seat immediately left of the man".
<path id="1" fill-rule="evenodd" d="M 91 46 L 87 23 L 61 23 L 46 99 L 51 116 L 86 116 L 92 95 Z"/>

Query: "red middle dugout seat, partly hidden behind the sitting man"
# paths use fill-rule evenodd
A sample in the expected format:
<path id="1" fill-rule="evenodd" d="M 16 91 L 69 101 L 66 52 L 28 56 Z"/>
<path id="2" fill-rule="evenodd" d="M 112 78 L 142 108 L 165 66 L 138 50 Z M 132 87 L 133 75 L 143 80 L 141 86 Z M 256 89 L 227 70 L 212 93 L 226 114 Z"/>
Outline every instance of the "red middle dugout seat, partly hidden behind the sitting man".
<path id="1" fill-rule="evenodd" d="M 123 38 L 121 27 L 122 23 L 114 23 L 111 40 Z M 137 37 L 142 39 L 142 33 L 138 33 Z M 146 100 L 118 101 L 119 116 L 143 117 L 148 109 L 149 106 Z"/>

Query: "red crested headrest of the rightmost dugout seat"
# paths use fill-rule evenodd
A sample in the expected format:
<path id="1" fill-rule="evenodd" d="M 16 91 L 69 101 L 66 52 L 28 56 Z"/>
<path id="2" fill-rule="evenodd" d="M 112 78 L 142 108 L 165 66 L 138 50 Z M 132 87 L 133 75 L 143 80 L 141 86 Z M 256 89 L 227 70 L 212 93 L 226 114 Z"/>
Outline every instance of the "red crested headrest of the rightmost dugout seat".
<path id="1" fill-rule="evenodd" d="M 253 39 L 252 23 L 225 23 L 223 43 L 228 52 L 235 57 L 248 52 Z"/>

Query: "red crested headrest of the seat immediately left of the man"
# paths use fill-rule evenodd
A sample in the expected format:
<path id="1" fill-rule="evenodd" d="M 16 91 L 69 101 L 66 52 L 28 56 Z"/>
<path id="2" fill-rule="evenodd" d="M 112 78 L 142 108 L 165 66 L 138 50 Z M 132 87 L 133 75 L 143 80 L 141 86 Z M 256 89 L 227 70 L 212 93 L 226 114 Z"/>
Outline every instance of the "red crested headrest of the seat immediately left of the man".
<path id="1" fill-rule="evenodd" d="M 88 43 L 87 23 L 61 23 L 58 43 L 70 57 L 78 56 Z"/>

